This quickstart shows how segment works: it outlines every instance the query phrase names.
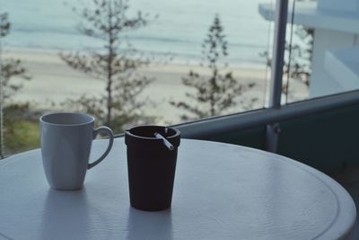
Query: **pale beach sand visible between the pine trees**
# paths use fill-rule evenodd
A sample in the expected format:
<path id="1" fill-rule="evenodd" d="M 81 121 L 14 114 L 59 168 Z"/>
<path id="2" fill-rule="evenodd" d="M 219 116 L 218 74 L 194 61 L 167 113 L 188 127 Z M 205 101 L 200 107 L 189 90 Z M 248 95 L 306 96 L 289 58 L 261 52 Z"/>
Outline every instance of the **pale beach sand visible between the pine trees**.
<path id="1" fill-rule="evenodd" d="M 59 58 L 56 51 L 39 49 L 11 49 L 4 51 L 4 58 L 19 58 L 24 67 L 29 70 L 30 81 L 23 82 L 21 92 L 13 96 L 13 101 L 31 102 L 33 107 L 42 110 L 60 109 L 60 102 L 67 99 L 76 99 L 83 94 L 100 95 L 105 93 L 105 82 L 87 76 L 74 70 Z M 228 67 L 232 74 L 242 84 L 255 83 L 255 87 L 244 93 L 243 99 L 257 98 L 254 108 L 262 108 L 268 97 L 270 78 L 266 66 L 240 66 Z M 185 93 L 191 89 L 181 83 L 181 77 L 188 75 L 189 70 L 195 70 L 202 75 L 208 75 L 206 69 L 186 64 L 152 64 L 139 69 L 139 73 L 154 77 L 152 84 L 148 85 L 140 99 L 149 99 L 154 105 L 144 108 L 146 114 L 159 116 L 158 124 L 170 124 L 180 121 L 182 110 L 176 109 L 169 103 L 171 100 L 186 99 Z M 13 79 L 19 81 L 19 79 Z M 295 89 L 294 99 L 304 99 L 308 91 L 302 84 L 292 81 L 291 88 Z M 55 102 L 55 105 L 51 103 Z M 64 110 L 64 109 L 62 109 Z M 227 113 L 244 111 L 245 108 L 237 105 Z"/>

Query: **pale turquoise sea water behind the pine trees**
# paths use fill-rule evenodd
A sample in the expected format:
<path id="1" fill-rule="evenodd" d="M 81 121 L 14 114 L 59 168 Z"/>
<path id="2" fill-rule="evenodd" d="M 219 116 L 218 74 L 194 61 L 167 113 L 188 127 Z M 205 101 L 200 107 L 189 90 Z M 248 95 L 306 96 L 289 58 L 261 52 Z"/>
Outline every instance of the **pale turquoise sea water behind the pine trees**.
<path id="1" fill-rule="evenodd" d="M 264 65 L 259 56 L 270 48 L 273 23 L 258 13 L 258 4 L 270 0 L 130 0 L 129 15 L 141 11 L 158 18 L 148 26 L 126 32 L 136 48 L 154 55 L 171 53 L 178 62 L 201 59 L 201 43 L 218 13 L 229 42 L 227 62 Z M 70 50 L 101 48 L 101 41 L 76 31 L 80 18 L 72 6 L 91 7 L 92 0 L 3 0 L 1 12 L 9 13 L 11 34 L 3 45 L 11 48 Z"/>

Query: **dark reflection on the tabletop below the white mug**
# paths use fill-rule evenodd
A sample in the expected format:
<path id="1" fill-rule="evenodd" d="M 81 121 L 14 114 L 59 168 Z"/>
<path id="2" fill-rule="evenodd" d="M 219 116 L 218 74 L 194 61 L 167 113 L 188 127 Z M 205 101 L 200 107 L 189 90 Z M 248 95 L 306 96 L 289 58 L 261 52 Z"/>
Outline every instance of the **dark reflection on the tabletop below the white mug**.
<path id="1" fill-rule="evenodd" d="M 48 190 L 43 211 L 40 239 L 76 239 L 80 233 L 91 229 L 90 206 L 86 190 L 54 191 Z"/>

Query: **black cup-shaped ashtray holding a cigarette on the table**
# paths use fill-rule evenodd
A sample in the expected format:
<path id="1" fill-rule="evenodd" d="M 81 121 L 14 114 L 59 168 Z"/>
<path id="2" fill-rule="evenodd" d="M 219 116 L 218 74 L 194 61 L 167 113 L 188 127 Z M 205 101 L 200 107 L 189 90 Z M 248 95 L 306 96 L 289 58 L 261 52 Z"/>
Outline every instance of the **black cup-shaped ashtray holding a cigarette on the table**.
<path id="1" fill-rule="evenodd" d="M 170 150 L 160 133 L 174 147 Z M 131 206 L 145 211 L 171 208 L 180 131 L 162 126 L 141 126 L 125 132 Z"/>

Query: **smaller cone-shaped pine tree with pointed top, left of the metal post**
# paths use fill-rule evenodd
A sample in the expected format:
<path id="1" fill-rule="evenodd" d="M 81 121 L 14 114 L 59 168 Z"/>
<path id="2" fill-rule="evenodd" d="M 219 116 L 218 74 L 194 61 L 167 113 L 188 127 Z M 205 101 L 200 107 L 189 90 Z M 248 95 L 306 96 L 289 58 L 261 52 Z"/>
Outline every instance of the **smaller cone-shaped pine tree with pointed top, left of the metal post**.
<path id="1" fill-rule="evenodd" d="M 191 103 L 170 102 L 171 105 L 187 111 L 181 116 L 182 120 L 223 114 L 237 105 L 237 97 L 254 86 L 254 84 L 240 84 L 230 71 L 223 73 L 227 64 L 223 65 L 220 61 L 228 56 L 228 42 L 225 40 L 218 15 L 215 15 L 215 20 L 202 44 L 202 55 L 204 59 L 201 66 L 207 67 L 211 76 L 201 76 L 190 70 L 188 76 L 182 78 L 182 84 L 195 90 L 195 93 L 186 93 Z"/>

